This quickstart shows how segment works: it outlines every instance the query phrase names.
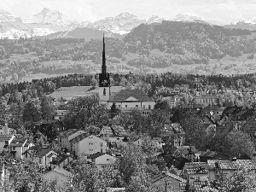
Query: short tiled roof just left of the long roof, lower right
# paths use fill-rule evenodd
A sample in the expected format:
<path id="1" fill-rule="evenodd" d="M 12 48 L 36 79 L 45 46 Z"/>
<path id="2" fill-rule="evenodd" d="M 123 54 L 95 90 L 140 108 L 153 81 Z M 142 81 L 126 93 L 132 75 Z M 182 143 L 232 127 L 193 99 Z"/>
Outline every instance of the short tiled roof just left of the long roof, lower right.
<path id="1" fill-rule="evenodd" d="M 207 174 L 207 162 L 191 162 L 185 164 L 188 174 Z"/>

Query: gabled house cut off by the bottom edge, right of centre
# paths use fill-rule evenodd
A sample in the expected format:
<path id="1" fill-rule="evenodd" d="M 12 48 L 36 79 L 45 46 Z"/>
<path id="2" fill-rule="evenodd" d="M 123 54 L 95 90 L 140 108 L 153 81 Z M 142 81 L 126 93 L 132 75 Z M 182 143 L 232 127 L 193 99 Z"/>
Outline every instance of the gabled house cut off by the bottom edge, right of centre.
<path id="1" fill-rule="evenodd" d="M 186 180 L 171 172 L 161 172 L 153 178 L 151 187 L 158 192 L 184 191 Z"/>

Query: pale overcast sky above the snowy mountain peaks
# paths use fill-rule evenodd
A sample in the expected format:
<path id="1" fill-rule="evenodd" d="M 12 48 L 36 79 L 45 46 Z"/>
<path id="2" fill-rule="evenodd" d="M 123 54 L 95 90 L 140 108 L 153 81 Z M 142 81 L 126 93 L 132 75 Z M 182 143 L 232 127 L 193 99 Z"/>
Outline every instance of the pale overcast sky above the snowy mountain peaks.
<path id="1" fill-rule="evenodd" d="M 256 20 L 256 0 L 0 0 L 0 9 L 26 19 L 42 9 L 57 9 L 82 20 L 100 20 L 128 12 L 142 19 L 158 15 L 166 20 L 177 14 L 201 16 L 224 23 Z"/>

